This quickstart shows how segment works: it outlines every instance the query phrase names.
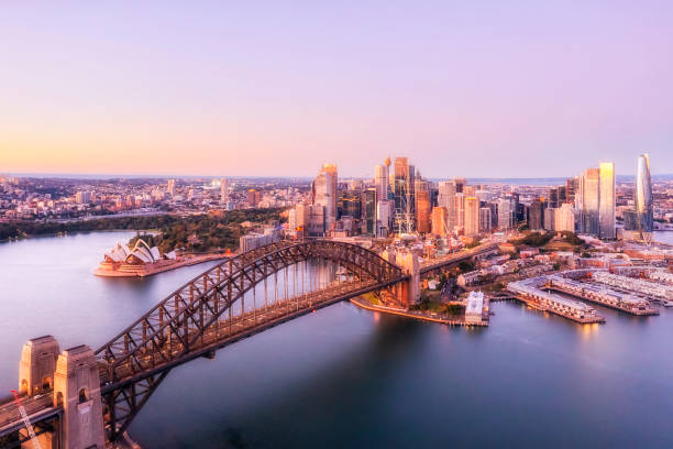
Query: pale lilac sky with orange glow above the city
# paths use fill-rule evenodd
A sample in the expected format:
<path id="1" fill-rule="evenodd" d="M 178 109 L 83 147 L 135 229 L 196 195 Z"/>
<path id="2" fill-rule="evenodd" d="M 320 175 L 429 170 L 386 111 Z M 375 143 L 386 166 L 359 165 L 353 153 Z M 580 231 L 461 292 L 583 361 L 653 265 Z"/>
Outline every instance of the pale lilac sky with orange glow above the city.
<path id="1" fill-rule="evenodd" d="M 669 3 L 64 4 L 0 18 L 2 173 L 673 172 Z"/>

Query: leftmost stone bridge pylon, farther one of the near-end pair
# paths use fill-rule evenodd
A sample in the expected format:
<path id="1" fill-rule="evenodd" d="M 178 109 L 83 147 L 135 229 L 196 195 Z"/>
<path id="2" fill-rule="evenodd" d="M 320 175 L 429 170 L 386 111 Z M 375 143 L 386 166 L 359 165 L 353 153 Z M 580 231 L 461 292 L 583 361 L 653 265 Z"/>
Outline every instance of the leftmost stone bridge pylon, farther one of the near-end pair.
<path id="1" fill-rule="evenodd" d="M 54 387 L 58 342 L 52 336 L 29 340 L 21 351 L 19 394 L 44 393 Z"/>

